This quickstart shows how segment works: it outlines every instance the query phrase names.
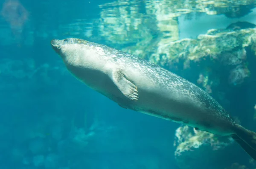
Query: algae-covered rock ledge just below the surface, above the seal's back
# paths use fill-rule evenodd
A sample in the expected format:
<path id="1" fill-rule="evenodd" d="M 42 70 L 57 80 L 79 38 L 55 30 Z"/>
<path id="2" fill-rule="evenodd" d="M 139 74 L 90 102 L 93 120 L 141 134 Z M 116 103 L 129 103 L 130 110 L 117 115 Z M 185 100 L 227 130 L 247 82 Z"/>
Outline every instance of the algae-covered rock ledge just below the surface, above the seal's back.
<path id="1" fill-rule="evenodd" d="M 245 47 L 255 45 L 256 28 L 241 30 L 211 29 L 197 39 L 181 39 L 159 44 L 157 52 L 150 57 L 151 62 L 162 66 L 184 60 L 184 67 L 190 61 L 198 62 L 205 57 L 220 59 L 226 65 L 238 65 L 246 59 Z"/>

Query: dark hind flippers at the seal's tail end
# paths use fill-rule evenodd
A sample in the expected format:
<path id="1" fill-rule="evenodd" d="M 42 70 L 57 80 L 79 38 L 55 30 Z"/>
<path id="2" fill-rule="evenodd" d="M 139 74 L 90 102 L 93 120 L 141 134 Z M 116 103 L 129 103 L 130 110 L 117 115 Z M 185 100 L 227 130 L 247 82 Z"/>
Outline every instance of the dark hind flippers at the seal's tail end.
<path id="1" fill-rule="evenodd" d="M 235 134 L 232 138 L 246 151 L 251 158 L 256 160 L 256 133 L 236 124 Z"/>

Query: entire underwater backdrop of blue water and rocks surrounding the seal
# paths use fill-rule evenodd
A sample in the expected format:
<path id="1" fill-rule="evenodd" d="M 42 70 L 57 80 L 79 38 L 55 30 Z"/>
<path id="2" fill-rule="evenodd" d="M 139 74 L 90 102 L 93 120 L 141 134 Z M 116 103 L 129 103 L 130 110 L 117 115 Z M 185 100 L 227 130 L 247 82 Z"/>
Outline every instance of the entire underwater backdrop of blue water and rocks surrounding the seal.
<path id="1" fill-rule="evenodd" d="M 256 131 L 255 0 L 0 0 L 0 169 L 256 169 L 229 137 L 123 109 L 50 45 L 75 37 L 206 90 Z"/>

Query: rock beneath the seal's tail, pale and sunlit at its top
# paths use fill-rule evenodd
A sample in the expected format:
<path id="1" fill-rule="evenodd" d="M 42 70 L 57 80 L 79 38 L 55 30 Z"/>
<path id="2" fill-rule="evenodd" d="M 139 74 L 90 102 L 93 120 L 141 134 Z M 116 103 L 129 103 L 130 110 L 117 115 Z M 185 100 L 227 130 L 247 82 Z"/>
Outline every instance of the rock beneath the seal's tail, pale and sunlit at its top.
<path id="1" fill-rule="evenodd" d="M 175 160 L 180 169 L 224 169 L 235 162 L 244 163 L 239 154 L 244 155 L 245 152 L 241 152 L 232 138 L 193 130 L 188 126 L 176 130 L 174 146 Z"/>

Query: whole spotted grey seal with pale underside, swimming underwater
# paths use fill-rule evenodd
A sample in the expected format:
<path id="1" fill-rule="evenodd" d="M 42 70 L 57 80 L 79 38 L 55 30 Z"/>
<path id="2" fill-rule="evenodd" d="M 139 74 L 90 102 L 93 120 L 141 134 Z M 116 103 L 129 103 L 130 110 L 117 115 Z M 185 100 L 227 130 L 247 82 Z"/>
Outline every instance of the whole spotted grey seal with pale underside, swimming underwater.
<path id="1" fill-rule="evenodd" d="M 207 92 L 158 65 L 83 39 L 52 39 L 52 48 L 81 82 L 119 106 L 217 135 L 230 135 L 256 160 L 256 133 Z"/>

